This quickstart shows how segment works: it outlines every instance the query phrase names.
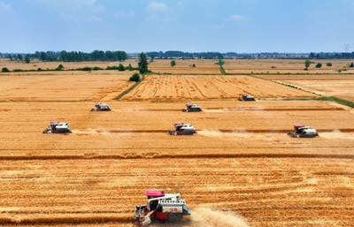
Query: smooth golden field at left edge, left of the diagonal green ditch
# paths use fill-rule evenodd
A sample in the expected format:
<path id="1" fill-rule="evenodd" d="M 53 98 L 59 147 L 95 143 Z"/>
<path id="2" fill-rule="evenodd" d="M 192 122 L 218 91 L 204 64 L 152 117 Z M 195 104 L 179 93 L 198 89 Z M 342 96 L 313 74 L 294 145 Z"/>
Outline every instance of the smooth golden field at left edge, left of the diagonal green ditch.
<path id="1" fill-rule="evenodd" d="M 128 81 L 131 74 L 118 71 L 3 73 L 0 102 L 109 101 L 134 84 Z"/>

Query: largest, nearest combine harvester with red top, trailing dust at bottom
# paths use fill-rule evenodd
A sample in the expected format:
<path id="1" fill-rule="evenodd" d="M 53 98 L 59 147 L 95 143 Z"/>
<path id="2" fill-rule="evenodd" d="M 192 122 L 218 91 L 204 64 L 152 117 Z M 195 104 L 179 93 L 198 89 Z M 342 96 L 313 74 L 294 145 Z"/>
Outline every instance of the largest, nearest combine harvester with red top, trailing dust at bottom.
<path id="1" fill-rule="evenodd" d="M 190 216 L 191 211 L 185 200 L 180 200 L 180 193 L 167 194 L 165 191 L 146 191 L 147 205 L 135 206 L 133 223 L 135 226 L 145 226 L 151 219 L 161 222 L 178 222 L 183 216 Z"/>

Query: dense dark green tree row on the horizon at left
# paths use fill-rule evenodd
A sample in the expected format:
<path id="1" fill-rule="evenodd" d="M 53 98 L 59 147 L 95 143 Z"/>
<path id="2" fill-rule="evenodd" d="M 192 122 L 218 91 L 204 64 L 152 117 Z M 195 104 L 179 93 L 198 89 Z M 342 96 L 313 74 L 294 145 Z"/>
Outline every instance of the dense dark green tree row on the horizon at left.
<path id="1" fill-rule="evenodd" d="M 125 51 L 103 51 L 94 50 L 91 53 L 81 51 L 35 51 L 35 54 L 27 55 L 31 58 L 38 58 L 47 62 L 82 62 L 82 61 L 125 61 L 127 60 L 127 53 Z"/>

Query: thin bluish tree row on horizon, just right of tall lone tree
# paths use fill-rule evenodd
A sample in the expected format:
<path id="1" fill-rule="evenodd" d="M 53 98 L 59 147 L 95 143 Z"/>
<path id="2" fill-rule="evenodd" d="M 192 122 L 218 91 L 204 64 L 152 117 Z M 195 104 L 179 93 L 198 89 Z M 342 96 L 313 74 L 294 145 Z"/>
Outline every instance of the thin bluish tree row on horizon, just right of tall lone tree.
<path id="1" fill-rule="evenodd" d="M 223 58 L 223 55 L 219 52 L 182 52 L 178 50 L 169 50 L 169 51 L 152 51 L 146 53 L 147 57 L 168 59 L 168 58 L 182 58 L 182 59 L 219 59 Z"/>

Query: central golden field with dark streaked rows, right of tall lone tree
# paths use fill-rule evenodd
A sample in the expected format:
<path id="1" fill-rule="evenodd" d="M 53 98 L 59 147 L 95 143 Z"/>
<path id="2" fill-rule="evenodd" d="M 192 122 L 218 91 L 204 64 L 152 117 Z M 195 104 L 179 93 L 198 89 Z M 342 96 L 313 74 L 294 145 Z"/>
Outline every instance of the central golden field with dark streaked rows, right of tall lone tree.
<path id="1" fill-rule="evenodd" d="M 148 75 L 123 100 L 235 99 L 242 94 L 256 98 L 317 96 L 250 76 Z"/>

